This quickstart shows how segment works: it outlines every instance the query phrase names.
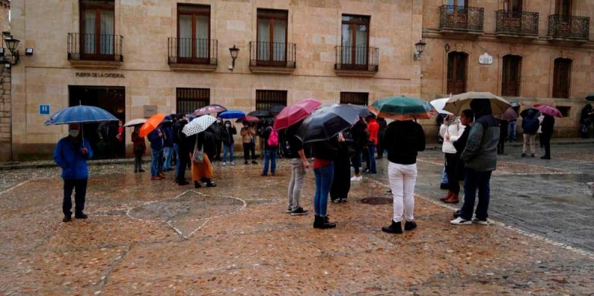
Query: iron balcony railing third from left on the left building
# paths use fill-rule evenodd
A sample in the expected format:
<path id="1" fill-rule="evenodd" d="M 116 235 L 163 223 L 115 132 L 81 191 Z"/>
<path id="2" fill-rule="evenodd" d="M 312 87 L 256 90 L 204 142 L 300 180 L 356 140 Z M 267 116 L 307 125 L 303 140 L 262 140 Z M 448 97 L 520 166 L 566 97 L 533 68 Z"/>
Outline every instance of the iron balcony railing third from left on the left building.
<path id="1" fill-rule="evenodd" d="M 295 43 L 285 42 L 249 42 L 250 67 L 295 68 Z"/>

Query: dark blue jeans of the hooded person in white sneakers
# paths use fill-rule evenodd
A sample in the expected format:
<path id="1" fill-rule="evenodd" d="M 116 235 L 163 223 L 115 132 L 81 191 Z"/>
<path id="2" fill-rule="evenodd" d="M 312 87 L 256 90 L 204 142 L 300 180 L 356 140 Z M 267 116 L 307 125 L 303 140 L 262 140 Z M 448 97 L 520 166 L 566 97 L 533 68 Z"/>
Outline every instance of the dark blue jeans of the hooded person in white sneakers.
<path id="1" fill-rule="evenodd" d="M 479 191 L 479 203 L 476 205 L 476 219 L 485 221 L 489 216 L 489 181 L 492 172 L 479 172 L 475 169 L 465 168 L 464 204 L 460 217 L 465 220 L 472 219 L 472 210 L 475 207 L 476 190 Z"/>

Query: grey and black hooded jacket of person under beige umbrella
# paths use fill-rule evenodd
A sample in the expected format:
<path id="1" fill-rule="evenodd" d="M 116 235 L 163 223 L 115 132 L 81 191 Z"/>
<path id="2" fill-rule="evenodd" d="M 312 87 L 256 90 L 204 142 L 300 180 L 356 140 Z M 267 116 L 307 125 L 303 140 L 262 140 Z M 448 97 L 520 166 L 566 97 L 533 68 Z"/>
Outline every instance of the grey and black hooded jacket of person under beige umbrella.
<path id="1" fill-rule="evenodd" d="M 497 143 L 499 121 L 491 115 L 491 103 L 487 99 L 473 99 L 470 109 L 475 112 L 475 124 L 470 128 L 462 160 L 467 168 L 479 172 L 497 169 Z"/>

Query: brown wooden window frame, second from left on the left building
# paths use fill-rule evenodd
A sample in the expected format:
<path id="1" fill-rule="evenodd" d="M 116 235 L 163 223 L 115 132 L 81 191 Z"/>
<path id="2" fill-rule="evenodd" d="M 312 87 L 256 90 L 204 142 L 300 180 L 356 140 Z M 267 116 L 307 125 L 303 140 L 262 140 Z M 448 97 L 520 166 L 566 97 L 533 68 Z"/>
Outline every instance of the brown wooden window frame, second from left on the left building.
<path id="1" fill-rule="evenodd" d="M 192 7 L 192 8 L 196 8 L 197 10 L 184 10 L 184 7 Z M 203 10 L 203 11 L 201 11 Z M 208 10 L 208 11 L 207 11 Z M 177 48 L 177 55 L 178 55 L 178 61 L 181 63 L 196 63 L 196 64 L 208 64 L 210 63 L 210 55 L 211 55 L 211 50 L 210 47 L 212 46 L 211 42 L 210 42 L 210 21 L 211 21 L 211 16 L 210 16 L 210 5 L 204 5 L 204 4 L 184 4 L 184 3 L 178 3 L 178 12 L 177 12 L 177 40 L 178 40 L 178 44 L 176 45 Z M 192 49 L 191 49 L 191 53 L 192 56 L 190 57 L 185 57 L 185 56 L 181 56 L 180 53 L 180 47 L 179 47 L 179 16 L 180 15 L 191 15 L 192 16 Z M 208 17 L 208 48 L 207 48 L 207 56 L 206 58 L 200 58 L 198 56 L 196 56 L 196 49 L 197 49 L 197 44 L 196 44 L 196 16 L 197 15 L 206 15 Z"/>

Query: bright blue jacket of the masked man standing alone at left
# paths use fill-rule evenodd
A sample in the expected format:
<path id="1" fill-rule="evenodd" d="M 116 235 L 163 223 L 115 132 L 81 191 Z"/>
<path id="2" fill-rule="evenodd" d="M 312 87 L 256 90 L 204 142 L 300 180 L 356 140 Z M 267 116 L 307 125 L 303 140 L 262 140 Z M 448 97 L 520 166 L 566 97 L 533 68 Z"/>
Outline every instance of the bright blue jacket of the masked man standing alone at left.
<path id="1" fill-rule="evenodd" d="M 93 157 L 93 150 L 87 140 L 84 140 L 84 147 L 89 151 L 87 155 L 80 152 L 80 149 L 83 148 L 81 141 L 75 143 L 69 136 L 58 141 L 56 149 L 53 150 L 53 161 L 62 168 L 62 179 L 80 180 L 89 178 L 87 159 Z"/>

